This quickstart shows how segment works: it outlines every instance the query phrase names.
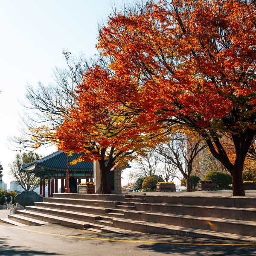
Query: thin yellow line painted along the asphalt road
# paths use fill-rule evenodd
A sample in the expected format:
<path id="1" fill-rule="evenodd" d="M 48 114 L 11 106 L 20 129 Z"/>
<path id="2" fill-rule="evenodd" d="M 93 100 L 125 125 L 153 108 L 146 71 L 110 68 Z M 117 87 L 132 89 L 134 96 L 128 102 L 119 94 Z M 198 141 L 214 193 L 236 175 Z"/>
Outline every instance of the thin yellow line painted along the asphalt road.
<path id="1" fill-rule="evenodd" d="M 0 225 L 0 227 L 6 227 Z M 160 241 L 141 241 L 141 240 L 123 240 L 123 239 L 108 239 L 108 238 L 94 238 L 94 237 L 84 237 L 84 236 L 70 236 L 70 235 L 61 235 L 61 234 L 55 234 L 55 233 L 47 233 L 47 232 L 41 232 L 36 230 L 29 230 L 25 228 L 17 228 L 17 227 L 7 227 L 7 228 L 13 228 L 18 230 L 24 230 L 28 232 L 34 232 L 44 235 L 50 235 L 50 236 L 61 236 L 61 237 L 69 237 L 69 238 L 78 238 L 78 239 L 88 239 L 88 240 L 100 240 L 100 241 L 116 241 L 116 242 L 129 242 L 129 243 L 142 243 L 142 244 L 183 244 L 183 245 L 213 245 L 213 246 L 223 246 L 223 245 L 254 245 L 256 246 L 256 243 L 229 243 L 229 244 L 204 244 L 204 243 L 180 243 L 180 242 L 160 242 Z"/>

